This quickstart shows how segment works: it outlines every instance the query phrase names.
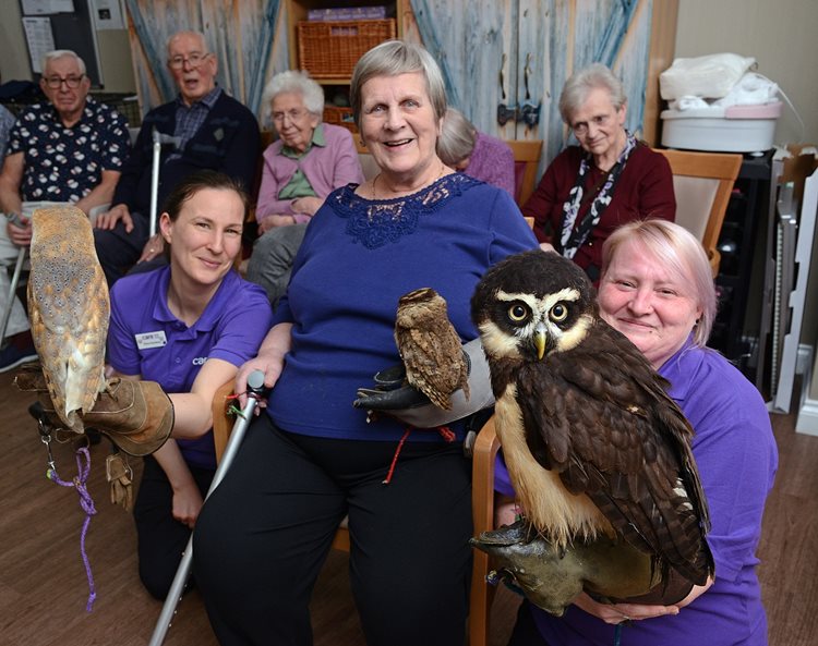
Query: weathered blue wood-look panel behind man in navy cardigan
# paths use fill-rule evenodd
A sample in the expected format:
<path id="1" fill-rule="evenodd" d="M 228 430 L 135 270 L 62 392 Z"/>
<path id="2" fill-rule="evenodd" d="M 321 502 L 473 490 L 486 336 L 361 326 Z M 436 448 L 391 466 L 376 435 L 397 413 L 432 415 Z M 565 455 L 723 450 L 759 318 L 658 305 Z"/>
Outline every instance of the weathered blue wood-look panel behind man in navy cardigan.
<path id="1" fill-rule="evenodd" d="M 171 35 L 183 29 L 205 35 L 218 58 L 218 84 L 260 113 L 279 0 L 125 0 L 125 3 L 143 113 L 177 95 L 165 65 L 165 47 Z"/>

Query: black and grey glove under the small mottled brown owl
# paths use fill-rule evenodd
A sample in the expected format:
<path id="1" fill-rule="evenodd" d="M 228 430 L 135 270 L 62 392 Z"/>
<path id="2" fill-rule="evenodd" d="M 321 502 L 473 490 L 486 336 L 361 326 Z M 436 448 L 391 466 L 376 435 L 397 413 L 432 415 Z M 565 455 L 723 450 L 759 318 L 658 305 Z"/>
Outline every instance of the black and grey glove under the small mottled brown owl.
<path id="1" fill-rule="evenodd" d="M 470 395 L 467 399 L 462 390 L 454 392 L 449 410 L 435 406 L 425 394 L 410 386 L 402 364 L 377 373 L 374 387 L 359 388 L 358 399 L 352 405 L 390 415 L 414 428 L 445 426 L 494 405 L 489 363 L 480 339 L 466 343 L 462 351 L 468 366 Z"/>

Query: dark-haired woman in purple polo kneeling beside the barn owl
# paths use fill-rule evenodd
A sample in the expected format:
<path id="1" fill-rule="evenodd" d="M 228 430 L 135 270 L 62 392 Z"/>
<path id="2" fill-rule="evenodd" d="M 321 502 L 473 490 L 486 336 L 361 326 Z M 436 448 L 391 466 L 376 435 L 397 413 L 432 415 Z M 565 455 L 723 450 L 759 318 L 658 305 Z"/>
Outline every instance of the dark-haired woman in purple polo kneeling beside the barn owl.
<path id="1" fill-rule="evenodd" d="M 210 401 L 269 329 L 264 291 L 233 269 L 246 196 L 216 171 L 182 180 L 159 220 L 170 264 L 111 290 L 108 361 L 157 381 L 175 410 L 171 438 L 145 458 L 134 508 L 140 577 L 165 598 L 216 470 Z"/>

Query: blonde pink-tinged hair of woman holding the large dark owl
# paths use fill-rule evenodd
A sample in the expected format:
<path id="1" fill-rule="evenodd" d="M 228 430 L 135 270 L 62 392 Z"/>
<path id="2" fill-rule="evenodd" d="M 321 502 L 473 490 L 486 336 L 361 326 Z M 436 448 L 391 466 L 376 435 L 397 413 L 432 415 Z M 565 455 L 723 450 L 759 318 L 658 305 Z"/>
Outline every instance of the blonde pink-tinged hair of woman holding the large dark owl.
<path id="1" fill-rule="evenodd" d="M 694 327 L 695 345 L 705 348 L 717 312 L 715 284 L 707 252 L 698 239 L 669 220 L 634 220 L 614 230 L 602 245 L 601 280 L 624 244 L 637 244 L 690 290 L 690 298 L 701 308 Z"/>

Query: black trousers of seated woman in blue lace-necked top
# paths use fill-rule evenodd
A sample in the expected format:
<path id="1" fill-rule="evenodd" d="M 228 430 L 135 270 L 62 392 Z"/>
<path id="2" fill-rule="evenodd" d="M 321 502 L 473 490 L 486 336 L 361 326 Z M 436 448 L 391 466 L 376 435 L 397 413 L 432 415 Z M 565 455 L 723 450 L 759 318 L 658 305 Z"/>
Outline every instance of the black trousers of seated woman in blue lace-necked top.
<path id="1" fill-rule="evenodd" d="M 421 432 L 421 431 L 416 431 Z M 468 612 L 470 463 L 460 444 L 286 434 L 262 415 L 194 533 L 194 573 L 222 646 L 312 644 L 309 602 L 349 514 L 369 646 L 459 646 Z"/>

